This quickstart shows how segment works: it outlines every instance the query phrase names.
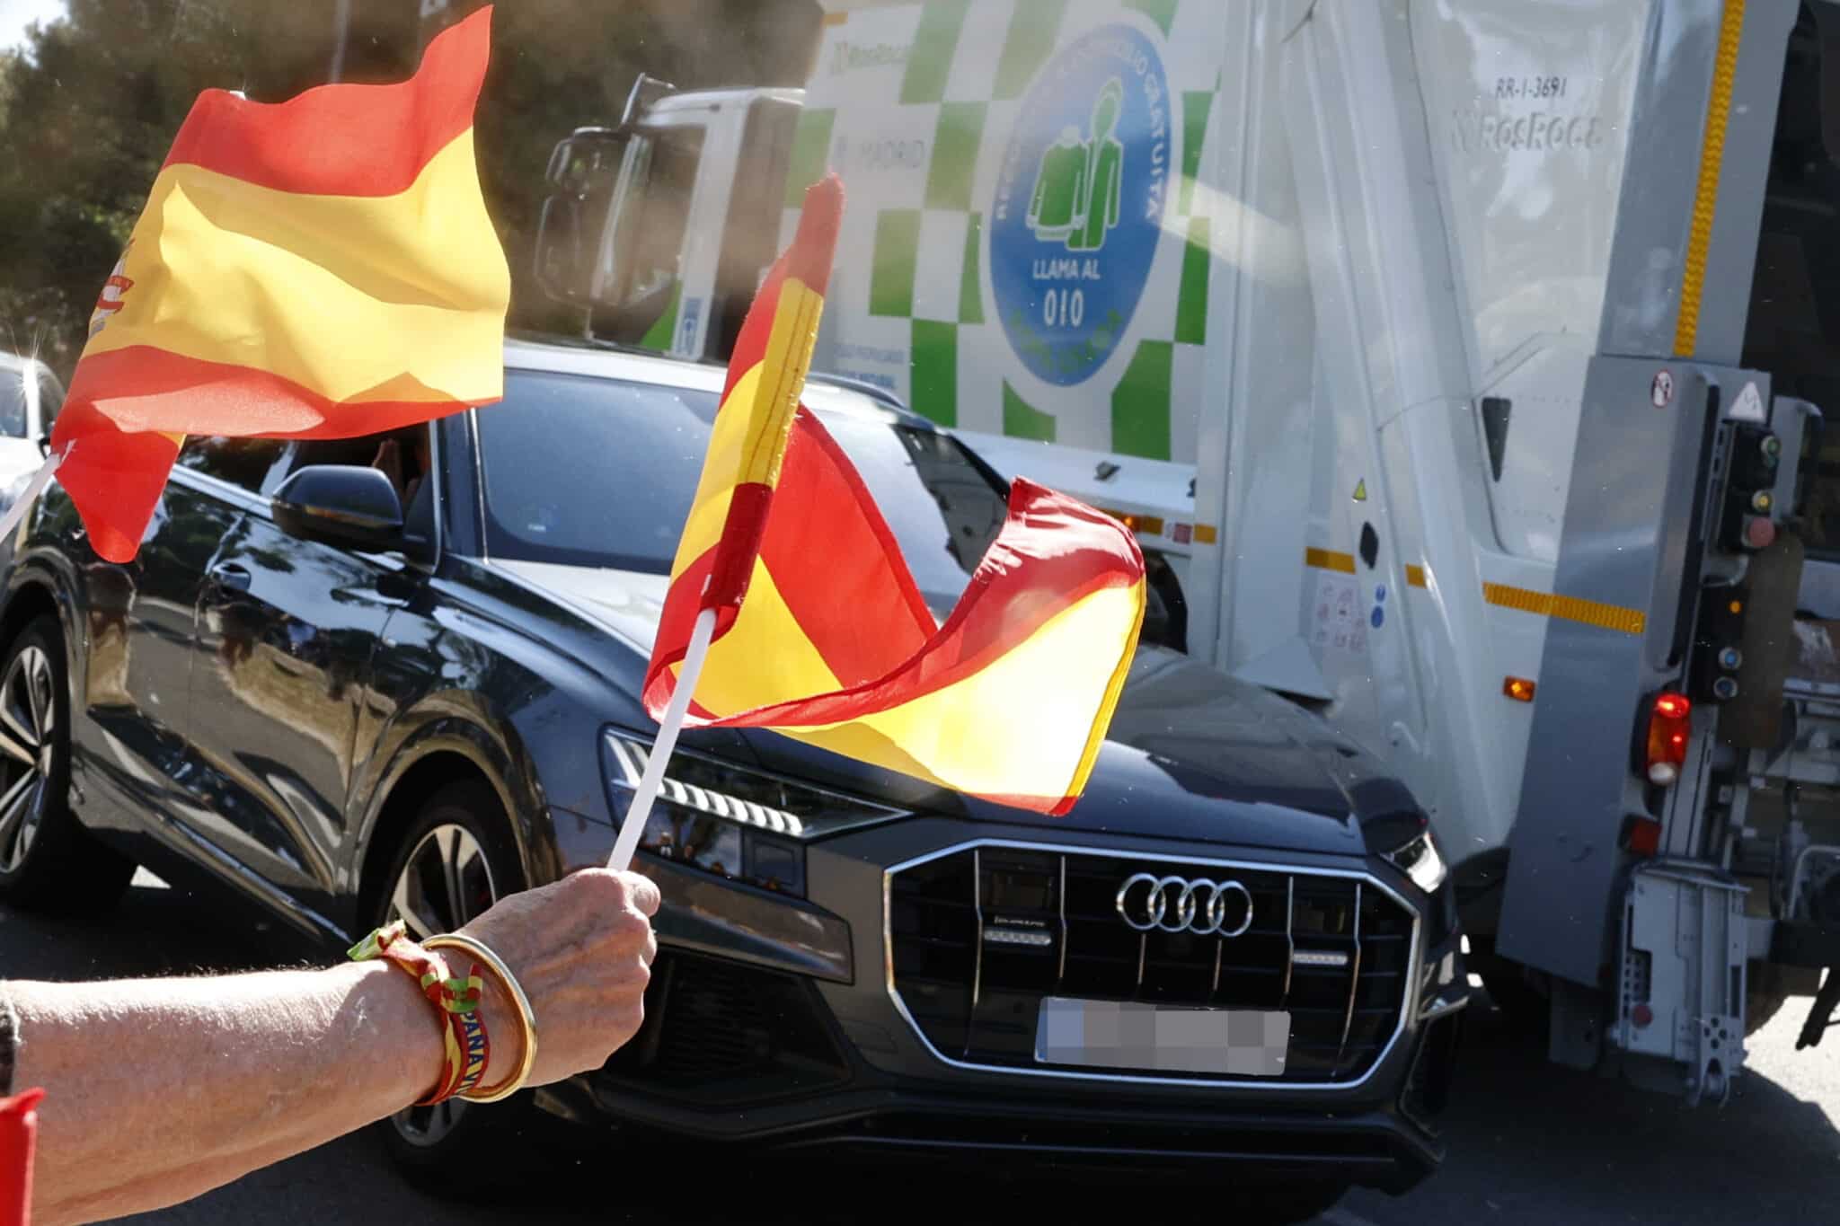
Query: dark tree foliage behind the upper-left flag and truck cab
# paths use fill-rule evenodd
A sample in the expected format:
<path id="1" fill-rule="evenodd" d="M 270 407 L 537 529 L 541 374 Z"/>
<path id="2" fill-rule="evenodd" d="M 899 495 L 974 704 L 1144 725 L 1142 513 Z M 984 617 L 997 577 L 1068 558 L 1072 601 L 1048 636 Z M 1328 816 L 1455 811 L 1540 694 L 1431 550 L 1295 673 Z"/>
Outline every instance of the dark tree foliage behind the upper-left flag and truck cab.
<path id="1" fill-rule="evenodd" d="M 401 81 L 438 29 L 478 7 L 70 0 L 0 51 L 0 349 L 68 377 L 90 309 L 178 123 L 204 88 L 280 101 L 342 81 Z M 438 9 L 423 17 L 421 7 Z M 613 123 L 638 72 L 683 88 L 799 85 L 817 0 L 500 0 L 475 121 L 480 182 L 512 265 L 512 325 L 559 314 L 530 278 L 543 171 L 572 129 Z"/>

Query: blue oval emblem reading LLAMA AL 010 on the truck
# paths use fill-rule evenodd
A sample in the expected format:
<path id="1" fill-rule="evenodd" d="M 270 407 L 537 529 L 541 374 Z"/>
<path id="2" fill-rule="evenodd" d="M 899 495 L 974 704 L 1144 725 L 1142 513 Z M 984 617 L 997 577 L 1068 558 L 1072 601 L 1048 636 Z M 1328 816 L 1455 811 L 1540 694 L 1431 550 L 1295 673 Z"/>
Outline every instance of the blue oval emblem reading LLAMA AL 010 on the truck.
<path id="1" fill-rule="evenodd" d="M 1163 233 L 1168 81 L 1156 44 L 1100 26 L 1021 101 L 990 206 L 990 289 L 1040 379 L 1089 379 L 1124 336 Z"/>

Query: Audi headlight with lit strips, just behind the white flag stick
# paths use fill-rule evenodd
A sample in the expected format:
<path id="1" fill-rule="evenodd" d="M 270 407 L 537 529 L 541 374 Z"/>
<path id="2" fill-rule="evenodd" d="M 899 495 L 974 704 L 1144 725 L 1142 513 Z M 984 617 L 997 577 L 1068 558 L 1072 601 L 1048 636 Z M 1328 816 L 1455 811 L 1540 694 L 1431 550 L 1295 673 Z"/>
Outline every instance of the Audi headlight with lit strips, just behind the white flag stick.
<path id="1" fill-rule="evenodd" d="M 602 733 L 600 750 L 607 803 L 618 823 L 646 772 L 651 741 L 609 728 Z M 638 849 L 762 890 L 804 897 L 806 842 L 905 816 L 905 809 L 679 748 L 672 754 Z"/>

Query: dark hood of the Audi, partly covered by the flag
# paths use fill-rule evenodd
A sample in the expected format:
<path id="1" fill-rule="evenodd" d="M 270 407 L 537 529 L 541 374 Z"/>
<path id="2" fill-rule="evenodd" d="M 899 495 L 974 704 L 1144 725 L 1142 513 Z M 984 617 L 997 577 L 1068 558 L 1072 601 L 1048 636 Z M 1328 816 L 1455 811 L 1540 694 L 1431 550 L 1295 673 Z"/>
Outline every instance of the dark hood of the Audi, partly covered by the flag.
<path id="1" fill-rule="evenodd" d="M 650 654 L 666 575 L 515 561 L 491 566 Z M 1358 853 L 1365 825 L 1417 811 L 1376 757 L 1319 717 L 1161 647 L 1139 647 L 1086 792 L 1058 818 L 942 792 L 776 733 L 747 730 L 743 737 L 764 766 L 1008 825 Z"/>

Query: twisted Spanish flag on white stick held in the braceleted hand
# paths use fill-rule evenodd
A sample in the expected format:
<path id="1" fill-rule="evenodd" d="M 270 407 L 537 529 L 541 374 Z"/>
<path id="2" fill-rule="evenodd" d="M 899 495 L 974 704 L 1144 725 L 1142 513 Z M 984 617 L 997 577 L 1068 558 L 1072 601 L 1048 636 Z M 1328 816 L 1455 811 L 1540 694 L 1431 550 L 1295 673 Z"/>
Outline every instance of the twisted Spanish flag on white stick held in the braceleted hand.
<path id="1" fill-rule="evenodd" d="M 662 719 L 690 632 L 716 634 L 686 724 L 773 728 L 1019 809 L 1073 807 L 1111 722 L 1144 610 L 1143 553 L 1115 518 L 1030 482 L 944 625 L 843 448 L 800 403 L 843 187 L 742 325 L 684 522 L 646 709 Z"/>

